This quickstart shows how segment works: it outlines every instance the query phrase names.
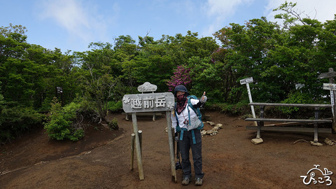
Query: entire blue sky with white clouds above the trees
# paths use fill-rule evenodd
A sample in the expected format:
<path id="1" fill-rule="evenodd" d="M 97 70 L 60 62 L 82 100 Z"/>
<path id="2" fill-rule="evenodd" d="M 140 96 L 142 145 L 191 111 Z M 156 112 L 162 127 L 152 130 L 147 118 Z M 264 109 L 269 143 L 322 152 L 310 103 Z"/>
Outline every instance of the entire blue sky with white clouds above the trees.
<path id="1" fill-rule="evenodd" d="M 0 27 L 27 28 L 27 42 L 62 52 L 90 50 L 91 42 L 113 43 L 118 36 L 212 36 L 230 23 L 274 20 L 285 0 L 0 0 Z M 290 2 L 290 1 L 288 1 Z M 296 0 L 296 10 L 320 22 L 334 20 L 335 0 Z"/>

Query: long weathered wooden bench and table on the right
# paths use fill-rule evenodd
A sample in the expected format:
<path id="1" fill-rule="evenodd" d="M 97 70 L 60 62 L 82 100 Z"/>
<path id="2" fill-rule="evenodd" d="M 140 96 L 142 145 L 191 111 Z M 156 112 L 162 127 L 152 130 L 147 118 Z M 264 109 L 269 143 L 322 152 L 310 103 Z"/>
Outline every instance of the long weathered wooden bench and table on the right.
<path id="1" fill-rule="evenodd" d="M 247 130 L 257 130 L 257 139 L 260 139 L 260 131 L 279 131 L 279 132 L 314 132 L 314 141 L 318 141 L 318 132 L 320 133 L 332 133 L 331 128 L 318 128 L 318 123 L 332 123 L 330 119 L 319 119 L 320 108 L 332 108 L 331 104 L 281 104 L 281 103 L 259 103 L 252 102 L 250 106 L 260 106 L 260 118 L 246 118 L 246 121 L 255 121 L 258 126 L 246 126 Z M 292 107 L 304 107 L 314 108 L 315 118 L 313 119 L 279 119 L 279 118 L 264 118 L 265 106 L 292 106 Z M 265 122 L 279 122 L 279 123 L 314 123 L 314 128 L 308 127 L 266 127 Z"/>

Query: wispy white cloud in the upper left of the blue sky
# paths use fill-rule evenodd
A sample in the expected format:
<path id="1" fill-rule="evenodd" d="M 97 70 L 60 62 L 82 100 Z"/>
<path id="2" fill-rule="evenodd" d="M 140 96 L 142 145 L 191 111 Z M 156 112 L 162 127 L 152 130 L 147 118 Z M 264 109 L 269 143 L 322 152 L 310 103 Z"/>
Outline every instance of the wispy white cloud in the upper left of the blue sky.
<path id="1" fill-rule="evenodd" d="M 68 31 L 72 42 L 77 39 L 88 44 L 106 34 L 106 20 L 93 4 L 83 4 L 80 0 L 41 0 L 41 8 L 41 18 L 57 22 Z"/>

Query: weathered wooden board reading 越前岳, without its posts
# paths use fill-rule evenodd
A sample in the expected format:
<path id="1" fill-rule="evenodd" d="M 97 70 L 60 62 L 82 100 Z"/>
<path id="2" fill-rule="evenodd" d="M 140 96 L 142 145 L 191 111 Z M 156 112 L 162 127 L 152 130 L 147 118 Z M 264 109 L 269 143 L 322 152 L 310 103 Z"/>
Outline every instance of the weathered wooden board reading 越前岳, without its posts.
<path id="1" fill-rule="evenodd" d="M 123 110 L 125 113 L 148 111 L 172 111 L 175 99 L 172 92 L 125 94 L 123 97 Z"/>

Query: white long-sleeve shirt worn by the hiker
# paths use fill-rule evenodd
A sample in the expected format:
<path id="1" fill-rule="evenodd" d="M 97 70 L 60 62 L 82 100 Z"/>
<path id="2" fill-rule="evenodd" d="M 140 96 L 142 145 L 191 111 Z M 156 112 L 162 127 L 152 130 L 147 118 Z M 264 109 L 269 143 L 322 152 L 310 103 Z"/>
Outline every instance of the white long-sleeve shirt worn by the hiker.
<path id="1" fill-rule="evenodd" d="M 190 103 L 195 105 L 198 102 L 200 102 L 199 99 L 190 99 Z M 189 107 L 189 105 L 187 104 L 186 108 L 183 109 L 183 111 L 179 114 L 175 114 L 175 110 L 172 112 L 172 127 L 174 128 L 174 132 L 176 132 L 176 125 L 177 125 L 177 120 L 176 120 L 176 115 L 177 118 L 179 119 L 179 126 L 181 127 L 181 129 L 186 128 L 187 129 L 187 125 L 184 124 L 184 120 L 188 120 L 188 122 L 190 122 L 189 120 L 189 116 L 188 116 L 188 109 L 189 109 L 189 113 L 190 113 L 190 120 L 192 120 L 194 117 L 197 117 L 197 114 L 195 113 L 195 111 L 193 111 L 193 109 L 191 109 Z"/>

